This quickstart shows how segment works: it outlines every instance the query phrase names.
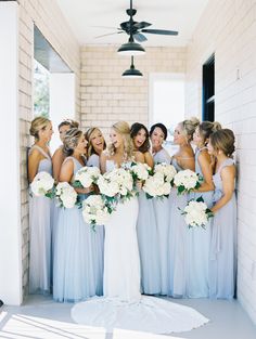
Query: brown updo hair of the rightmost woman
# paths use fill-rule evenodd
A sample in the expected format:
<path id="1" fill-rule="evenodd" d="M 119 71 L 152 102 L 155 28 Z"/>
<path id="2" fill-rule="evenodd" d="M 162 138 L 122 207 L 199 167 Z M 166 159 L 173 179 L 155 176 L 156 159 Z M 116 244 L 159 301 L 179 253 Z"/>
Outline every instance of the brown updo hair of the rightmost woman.
<path id="1" fill-rule="evenodd" d="M 228 128 L 218 130 L 209 135 L 209 140 L 214 151 L 222 151 L 227 157 L 232 158 L 232 154 L 235 151 L 233 131 Z"/>

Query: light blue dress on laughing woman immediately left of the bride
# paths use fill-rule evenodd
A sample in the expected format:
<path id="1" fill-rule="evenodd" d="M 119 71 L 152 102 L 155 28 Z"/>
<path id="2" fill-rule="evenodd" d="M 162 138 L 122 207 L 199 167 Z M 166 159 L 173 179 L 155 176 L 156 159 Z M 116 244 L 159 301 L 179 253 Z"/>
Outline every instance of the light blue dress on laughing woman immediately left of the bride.
<path id="1" fill-rule="evenodd" d="M 92 154 L 86 166 L 100 168 L 100 157 L 97 154 Z M 86 196 L 86 195 L 85 195 Z M 97 282 L 97 296 L 103 295 L 103 266 L 104 266 L 104 226 L 95 225 L 95 232 L 91 234 L 92 251 L 93 251 L 93 272 L 95 274 Z"/>

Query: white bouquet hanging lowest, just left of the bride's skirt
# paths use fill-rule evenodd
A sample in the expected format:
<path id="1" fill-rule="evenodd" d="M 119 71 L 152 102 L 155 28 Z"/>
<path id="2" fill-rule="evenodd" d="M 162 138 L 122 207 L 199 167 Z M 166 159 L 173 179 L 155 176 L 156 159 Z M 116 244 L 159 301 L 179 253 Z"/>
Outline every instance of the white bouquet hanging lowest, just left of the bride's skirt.
<path id="1" fill-rule="evenodd" d="M 90 195 L 82 201 L 82 217 L 86 223 L 95 230 L 95 225 L 103 225 L 108 220 L 113 208 L 104 201 L 101 195 Z"/>

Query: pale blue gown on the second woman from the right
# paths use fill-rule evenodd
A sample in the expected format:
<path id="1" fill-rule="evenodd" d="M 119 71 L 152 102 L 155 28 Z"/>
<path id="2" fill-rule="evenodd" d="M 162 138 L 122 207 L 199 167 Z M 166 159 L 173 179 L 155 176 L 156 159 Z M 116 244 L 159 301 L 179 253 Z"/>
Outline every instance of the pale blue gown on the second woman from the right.
<path id="1" fill-rule="evenodd" d="M 203 148 L 195 151 L 195 172 L 203 177 L 199 156 Z M 190 199 L 203 197 L 208 208 L 213 207 L 214 191 L 196 192 L 189 195 Z M 208 298 L 209 296 L 209 243 L 212 220 L 203 227 L 188 230 L 188 276 L 187 294 L 189 298 Z"/>

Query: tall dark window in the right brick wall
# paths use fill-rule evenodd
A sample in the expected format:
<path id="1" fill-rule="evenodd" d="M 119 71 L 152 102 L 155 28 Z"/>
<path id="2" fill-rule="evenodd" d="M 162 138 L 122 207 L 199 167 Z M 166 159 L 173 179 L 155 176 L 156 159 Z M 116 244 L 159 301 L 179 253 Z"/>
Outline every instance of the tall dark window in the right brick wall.
<path id="1" fill-rule="evenodd" d="M 215 120 L 215 56 L 203 65 L 203 116 L 202 120 Z"/>

